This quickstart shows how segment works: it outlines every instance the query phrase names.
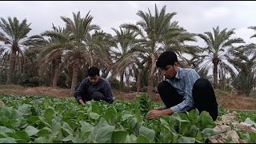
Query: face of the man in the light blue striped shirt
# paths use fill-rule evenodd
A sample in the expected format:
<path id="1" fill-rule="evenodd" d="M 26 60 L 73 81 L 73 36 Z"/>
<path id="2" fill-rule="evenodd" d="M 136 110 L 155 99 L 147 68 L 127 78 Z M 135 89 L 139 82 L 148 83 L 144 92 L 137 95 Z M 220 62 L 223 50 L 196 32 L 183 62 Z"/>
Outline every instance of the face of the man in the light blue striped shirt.
<path id="1" fill-rule="evenodd" d="M 174 66 L 167 65 L 166 67 L 161 67 L 162 74 L 166 77 L 166 79 L 174 78 L 177 74 L 178 63 L 175 62 Z"/>

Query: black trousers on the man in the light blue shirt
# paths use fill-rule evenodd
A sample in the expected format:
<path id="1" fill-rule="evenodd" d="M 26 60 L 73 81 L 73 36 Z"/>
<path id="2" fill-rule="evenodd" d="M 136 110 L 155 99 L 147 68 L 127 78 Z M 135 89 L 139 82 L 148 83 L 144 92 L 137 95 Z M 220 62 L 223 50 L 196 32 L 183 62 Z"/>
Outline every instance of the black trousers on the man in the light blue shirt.
<path id="1" fill-rule="evenodd" d="M 178 94 L 177 90 L 169 82 L 163 81 L 159 83 L 158 92 L 167 108 L 176 106 L 183 101 L 183 96 Z M 218 103 L 214 89 L 207 79 L 199 78 L 194 83 L 192 97 L 194 98 L 194 108 L 198 109 L 200 114 L 203 110 L 206 110 L 214 121 L 217 119 Z"/>

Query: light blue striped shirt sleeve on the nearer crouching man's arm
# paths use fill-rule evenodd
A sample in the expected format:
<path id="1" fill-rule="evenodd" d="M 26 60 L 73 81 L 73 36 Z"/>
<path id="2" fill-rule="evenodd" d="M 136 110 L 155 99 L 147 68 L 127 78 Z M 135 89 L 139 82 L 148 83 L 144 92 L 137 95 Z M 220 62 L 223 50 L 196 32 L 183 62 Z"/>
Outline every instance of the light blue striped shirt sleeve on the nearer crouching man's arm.
<path id="1" fill-rule="evenodd" d="M 190 72 L 186 74 L 185 78 L 182 80 L 185 85 L 185 95 L 183 98 L 184 100 L 178 105 L 170 108 L 173 112 L 185 112 L 191 110 L 194 107 L 192 89 L 194 86 L 194 82 L 196 82 L 198 78 L 200 78 L 200 76 L 195 70 L 190 70 Z"/>

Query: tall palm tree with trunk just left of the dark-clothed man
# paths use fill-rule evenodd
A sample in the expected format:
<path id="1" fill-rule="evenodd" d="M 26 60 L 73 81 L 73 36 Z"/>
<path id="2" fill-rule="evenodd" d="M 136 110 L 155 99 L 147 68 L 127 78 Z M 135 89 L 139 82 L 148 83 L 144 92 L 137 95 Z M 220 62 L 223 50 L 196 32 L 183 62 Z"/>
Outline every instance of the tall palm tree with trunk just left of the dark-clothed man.
<path id="1" fill-rule="evenodd" d="M 70 31 L 70 37 L 72 39 L 73 47 L 66 51 L 66 62 L 73 67 L 72 72 L 72 84 L 71 84 L 71 96 L 74 95 L 74 89 L 77 84 L 78 70 L 82 64 L 88 63 L 92 66 L 92 56 L 87 50 L 87 39 L 91 30 L 99 30 L 100 27 L 92 25 L 93 16 L 90 15 L 90 11 L 86 14 L 85 18 L 81 18 L 80 12 L 78 14 L 73 13 L 73 20 L 66 17 L 61 17 L 66 22 L 66 29 Z"/>

